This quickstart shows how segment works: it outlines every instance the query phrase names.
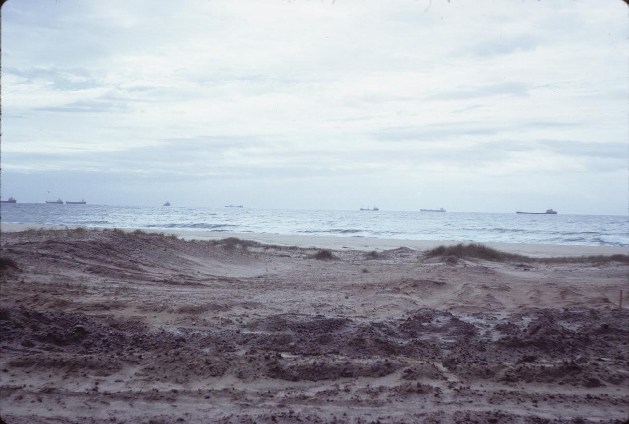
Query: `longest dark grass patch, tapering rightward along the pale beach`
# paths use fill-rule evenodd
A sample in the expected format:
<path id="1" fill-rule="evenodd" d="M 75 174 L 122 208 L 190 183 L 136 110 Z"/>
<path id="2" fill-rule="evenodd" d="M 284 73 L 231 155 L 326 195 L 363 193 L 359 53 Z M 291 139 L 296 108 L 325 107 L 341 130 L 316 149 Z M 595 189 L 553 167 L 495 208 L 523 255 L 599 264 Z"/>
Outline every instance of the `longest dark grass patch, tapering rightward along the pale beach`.
<path id="1" fill-rule="evenodd" d="M 629 255 L 596 255 L 596 256 L 560 256 L 556 258 L 532 258 L 531 256 L 507 253 L 497 249 L 489 248 L 479 243 L 462 244 L 455 246 L 438 246 L 437 248 L 425 251 L 423 258 L 460 258 L 460 259 L 481 259 L 494 262 L 519 261 L 538 263 L 593 263 L 595 265 L 608 263 L 611 261 L 629 263 Z"/>

